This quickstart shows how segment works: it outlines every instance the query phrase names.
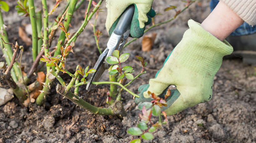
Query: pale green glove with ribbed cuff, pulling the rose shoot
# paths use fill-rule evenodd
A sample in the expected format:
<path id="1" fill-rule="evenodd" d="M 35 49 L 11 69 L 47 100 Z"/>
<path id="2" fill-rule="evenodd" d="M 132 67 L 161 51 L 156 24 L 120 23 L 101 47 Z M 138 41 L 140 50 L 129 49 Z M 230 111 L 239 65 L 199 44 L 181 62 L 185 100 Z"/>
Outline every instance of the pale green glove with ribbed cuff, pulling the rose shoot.
<path id="1" fill-rule="evenodd" d="M 142 85 L 140 98 L 135 102 L 150 101 L 148 91 L 164 97 L 166 89 L 175 85 L 168 97 L 167 115 L 176 114 L 198 103 L 212 98 L 212 84 L 219 70 L 222 58 L 232 53 L 233 48 L 227 41 L 220 41 L 205 31 L 199 23 L 189 20 L 189 29 L 184 33 L 180 43 L 165 60 L 149 85 Z"/>

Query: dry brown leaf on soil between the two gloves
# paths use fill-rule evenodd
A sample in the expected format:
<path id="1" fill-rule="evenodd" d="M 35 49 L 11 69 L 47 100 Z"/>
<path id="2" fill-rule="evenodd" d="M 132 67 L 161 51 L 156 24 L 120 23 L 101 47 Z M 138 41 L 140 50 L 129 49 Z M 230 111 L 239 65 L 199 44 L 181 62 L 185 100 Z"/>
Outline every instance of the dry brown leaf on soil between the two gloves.
<path id="1" fill-rule="evenodd" d="M 156 33 L 145 35 L 142 39 L 142 51 L 150 51 L 154 45 Z"/>

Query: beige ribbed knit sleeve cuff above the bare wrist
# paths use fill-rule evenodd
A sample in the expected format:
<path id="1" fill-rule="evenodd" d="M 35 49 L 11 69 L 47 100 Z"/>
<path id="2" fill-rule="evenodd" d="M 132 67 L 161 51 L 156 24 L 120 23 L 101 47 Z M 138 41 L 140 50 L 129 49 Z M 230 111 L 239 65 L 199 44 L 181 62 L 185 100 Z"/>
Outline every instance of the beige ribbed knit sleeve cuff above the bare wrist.
<path id="1" fill-rule="evenodd" d="M 220 0 L 249 25 L 256 25 L 256 0 Z"/>

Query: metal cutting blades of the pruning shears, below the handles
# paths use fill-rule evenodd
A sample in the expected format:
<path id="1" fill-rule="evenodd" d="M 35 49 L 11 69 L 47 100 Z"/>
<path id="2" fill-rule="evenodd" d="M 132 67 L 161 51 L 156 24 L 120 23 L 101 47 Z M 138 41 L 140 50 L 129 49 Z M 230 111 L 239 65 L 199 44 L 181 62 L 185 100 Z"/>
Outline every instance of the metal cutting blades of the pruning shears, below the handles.
<path id="1" fill-rule="evenodd" d="M 90 91 L 91 88 L 91 82 L 97 82 L 99 80 L 99 78 L 101 77 L 101 75 L 103 74 L 103 72 L 106 70 L 105 67 L 105 58 L 107 56 L 108 53 L 108 48 L 106 48 L 102 54 L 100 55 L 99 59 L 97 60 L 96 64 L 94 65 L 93 69 L 96 69 L 95 73 L 92 73 L 90 75 L 89 81 L 86 85 L 86 90 Z"/>

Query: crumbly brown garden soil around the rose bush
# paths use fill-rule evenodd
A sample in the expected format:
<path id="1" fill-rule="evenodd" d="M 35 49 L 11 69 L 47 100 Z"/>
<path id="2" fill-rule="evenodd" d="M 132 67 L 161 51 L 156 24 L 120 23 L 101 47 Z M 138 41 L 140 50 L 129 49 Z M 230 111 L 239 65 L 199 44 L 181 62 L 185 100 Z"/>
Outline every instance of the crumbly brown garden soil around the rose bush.
<path id="1" fill-rule="evenodd" d="M 47 1 L 53 6 L 55 0 Z M 4 21 L 7 25 L 7 32 L 11 42 L 16 40 L 20 45 L 24 44 L 18 37 L 18 26 L 28 24 L 28 18 L 17 16 L 14 10 L 16 1 L 7 1 L 10 6 L 8 13 L 3 12 Z M 41 1 L 36 1 L 37 7 Z M 149 78 L 153 78 L 158 69 L 161 68 L 165 58 L 173 49 L 171 44 L 165 42 L 165 31 L 170 27 L 186 26 L 186 21 L 190 18 L 202 22 L 209 14 L 209 1 L 202 1 L 201 4 L 194 3 L 190 9 L 177 17 L 169 24 L 161 25 L 150 32 L 156 32 L 157 38 L 153 49 L 149 52 L 142 52 L 141 39 L 129 45 L 124 52 L 131 54 L 127 65 L 135 68 L 134 75 L 140 72 L 141 67 L 135 60 L 135 55 L 145 58 L 149 63 L 147 73 L 138 78 L 128 88 L 138 93 L 137 88 L 146 84 Z M 60 7 L 64 7 L 65 2 Z M 155 22 L 164 21 L 175 15 L 174 11 L 163 12 L 166 5 L 184 7 L 185 3 L 179 0 L 159 0 L 155 1 L 153 8 L 164 14 L 157 16 Z M 86 4 L 75 12 L 71 25 L 71 32 L 78 29 L 83 21 Z M 106 11 L 105 4 L 101 8 Z M 50 9 L 50 8 L 49 8 Z M 61 11 L 57 9 L 55 15 Z M 50 19 L 53 20 L 54 16 Z M 106 13 L 100 13 L 97 21 L 97 29 L 103 32 L 100 37 L 100 47 L 106 47 L 108 35 L 105 29 Z M 149 32 L 149 33 L 150 33 Z M 56 42 L 55 42 L 56 43 Z M 55 45 L 53 43 L 53 45 Z M 26 51 L 22 57 L 25 71 L 28 71 L 32 59 L 31 47 L 25 47 Z M 67 58 L 66 68 L 70 71 L 77 64 L 82 67 L 93 65 L 99 56 L 96 49 L 92 27 L 87 26 L 85 32 L 81 34 L 74 48 L 75 54 L 70 54 Z M 1 59 L 2 52 L 0 52 Z M 74 71 L 74 70 L 73 70 Z M 70 78 L 61 75 L 66 81 Z M 102 81 L 107 80 L 107 73 L 102 77 Z M 55 81 L 55 85 L 58 83 Z M 196 83 L 195 83 L 196 84 Z M 104 107 L 106 105 L 108 85 L 101 85 L 91 92 L 86 92 L 85 87 L 80 88 L 79 94 L 89 103 Z M 223 64 L 215 76 L 213 86 L 213 98 L 211 101 L 195 105 L 176 115 L 168 116 L 169 122 L 154 132 L 153 141 L 143 141 L 145 143 L 170 143 L 170 142 L 256 142 L 256 67 L 244 64 L 239 59 L 224 60 Z M 101 116 L 91 114 L 85 109 L 76 107 L 71 101 L 63 99 L 56 94 L 53 88 L 47 98 L 45 106 L 31 104 L 28 108 L 22 107 L 17 99 L 9 101 L 0 107 L 0 143 L 126 143 L 134 139 L 129 136 L 126 130 L 139 122 L 136 105 L 132 96 L 127 92 L 122 95 L 123 103 L 128 107 L 127 116 L 123 120 L 114 116 Z"/>

